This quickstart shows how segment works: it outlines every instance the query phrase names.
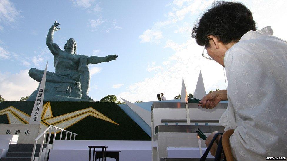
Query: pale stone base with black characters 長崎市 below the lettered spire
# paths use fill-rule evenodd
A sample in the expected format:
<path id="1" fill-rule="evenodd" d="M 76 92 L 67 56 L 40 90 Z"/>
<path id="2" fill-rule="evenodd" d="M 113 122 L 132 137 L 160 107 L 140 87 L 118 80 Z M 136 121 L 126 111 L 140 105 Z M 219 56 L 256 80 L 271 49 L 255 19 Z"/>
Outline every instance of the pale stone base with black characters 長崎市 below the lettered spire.
<path id="1" fill-rule="evenodd" d="M 18 135 L 18 144 L 34 144 L 35 139 L 47 126 L 28 124 L 0 124 L 0 135 Z M 38 142 L 41 143 L 43 138 Z"/>

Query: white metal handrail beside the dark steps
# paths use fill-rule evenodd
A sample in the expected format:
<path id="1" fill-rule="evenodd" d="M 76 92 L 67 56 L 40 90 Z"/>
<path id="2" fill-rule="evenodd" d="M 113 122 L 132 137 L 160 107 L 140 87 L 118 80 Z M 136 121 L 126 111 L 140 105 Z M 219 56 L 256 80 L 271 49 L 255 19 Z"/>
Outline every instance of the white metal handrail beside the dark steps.
<path id="1" fill-rule="evenodd" d="M 41 143 L 41 148 L 40 148 L 40 150 L 39 150 L 39 157 L 38 157 L 38 160 L 41 161 L 41 153 L 42 153 L 44 141 L 45 141 L 45 138 L 46 138 L 46 133 L 48 133 L 48 130 L 50 130 L 50 131 L 49 131 L 48 140 L 47 140 L 46 152 L 45 152 L 45 156 L 44 156 L 44 161 L 47 160 L 47 154 L 48 154 L 48 151 L 49 151 L 48 145 L 49 145 L 49 143 L 50 143 L 52 128 L 55 128 L 54 137 L 53 137 L 53 141 L 52 141 L 52 149 L 53 149 L 53 146 L 54 146 L 54 141 L 55 141 L 55 139 L 56 139 L 57 130 L 60 130 L 60 131 L 61 131 L 60 140 L 62 140 L 62 132 L 63 132 L 63 131 L 66 131 L 65 140 L 67 140 L 67 135 L 68 135 L 68 133 L 70 133 L 70 140 L 71 140 L 72 134 L 74 134 L 74 140 L 75 140 L 75 138 L 76 138 L 76 135 L 78 135 L 78 134 L 76 134 L 76 133 L 72 133 L 72 132 L 67 131 L 67 130 L 64 130 L 64 129 L 62 129 L 62 128 L 58 128 L 58 127 L 56 127 L 56 126 L 50 125 L 48 128 L 46 128 L 46 130 L 44 130 L 44 131 L 35 139 L 35 143 L 34 143 L 34 147 L 33 147 L 33 152 L 32 152 L 31 161 L 34 161 L 35 152 L 36 152 L 36 146 L 37 146 L 37 141 L 44 135 L 43 141 L 42 141 L 42 143 Z"/>

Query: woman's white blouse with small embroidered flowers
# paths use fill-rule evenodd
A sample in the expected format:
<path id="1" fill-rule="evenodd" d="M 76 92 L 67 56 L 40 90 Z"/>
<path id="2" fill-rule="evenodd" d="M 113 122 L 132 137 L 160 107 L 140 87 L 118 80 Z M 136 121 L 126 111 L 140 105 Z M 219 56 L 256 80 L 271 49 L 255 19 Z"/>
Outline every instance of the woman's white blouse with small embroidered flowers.
<path id="1" fill-rule="evenodd" d="M 224 57 L 228 107 L 219 122 L 236 160 L 287 156 L 287 42 L 270 26 L 249 31 Z"/>

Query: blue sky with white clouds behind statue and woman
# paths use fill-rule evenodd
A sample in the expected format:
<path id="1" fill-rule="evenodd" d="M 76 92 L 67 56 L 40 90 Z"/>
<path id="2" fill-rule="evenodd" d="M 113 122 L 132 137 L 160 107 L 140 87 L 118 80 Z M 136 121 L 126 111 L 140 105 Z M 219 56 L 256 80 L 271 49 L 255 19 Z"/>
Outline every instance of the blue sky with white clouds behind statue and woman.
<path id="1" fill-rule="evenodd" d="M 6 100 L 30 95 L 38 82 L 28 76 L 32 67 L 54 72 L 46 35 L 57 20 L 61 30 L 54 42 L 64 50 L 69 38 L 77 54 L 118 59 L 89 65 L 89 96 L 95 101 L 114 94 L 131 102 L 153 101 L 165 93 L 173 99 L 184 77 L 188 93 L 202 70 L 206 91 L 225 89 L 223 67 L 201 57 L 203 47 L 191 29 L 213 0 L 175 1 L 9 1 L 0 0 L 0 94 Z M 242 1 L 253 12 L 258 29 L 271 26 L 287 39 L 286 1 Z M 281 21 L 284 20 L 284 21 Z"/>

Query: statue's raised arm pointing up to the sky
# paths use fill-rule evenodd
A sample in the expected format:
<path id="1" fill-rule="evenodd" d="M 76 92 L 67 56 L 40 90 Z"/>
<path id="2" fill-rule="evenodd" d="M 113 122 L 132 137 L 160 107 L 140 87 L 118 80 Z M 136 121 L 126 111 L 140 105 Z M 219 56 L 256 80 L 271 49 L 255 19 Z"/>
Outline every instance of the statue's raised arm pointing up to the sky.
<path id="1" fill-rule="evenodd" d="M 57 28 L 59 25 L 60 24 L 57 23 L 57 20 L 56 20 L 54 25 L 49 29 L 49 32 L 47 35 L 46 44 L 47 44 L 48 48 L 50 49 L 50 51 L 53 55 L 57 55 L 59 52 L 59 46 L 57 44 L 53 43 L 54 31 L 58 31 L 61 29 L 61 28 Z"/>

